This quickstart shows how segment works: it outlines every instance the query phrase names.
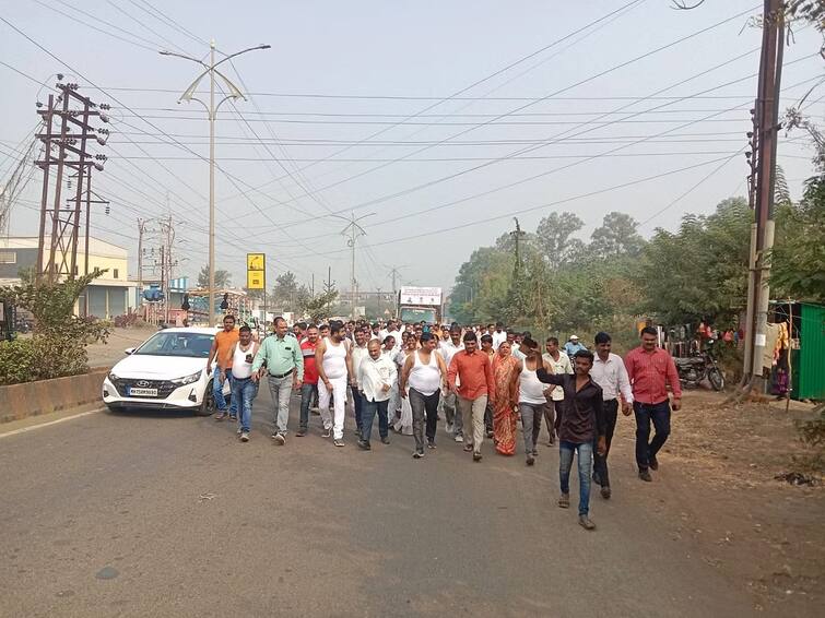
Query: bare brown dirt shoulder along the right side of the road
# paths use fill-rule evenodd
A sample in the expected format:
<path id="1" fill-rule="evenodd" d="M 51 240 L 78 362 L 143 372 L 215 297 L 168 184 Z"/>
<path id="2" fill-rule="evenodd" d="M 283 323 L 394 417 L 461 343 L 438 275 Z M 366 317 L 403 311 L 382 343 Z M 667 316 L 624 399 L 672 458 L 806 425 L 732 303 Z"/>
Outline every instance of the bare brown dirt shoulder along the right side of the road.
<path id="1" fill-rule="evenodd" d="M 812 418 L 813 406 L 792 402 L 786 413 L 785 402 L 722 406 L 723 399 L 685 394 L 653 473 L 653 508 L 672 522 L 673 540 L 744 585 L 756 610 L 809 615 L 825 583 L 825 487 L 775 477 L 805 452 L 794 420 Z M 635 424 L 620 427 L 632 441 Z"/>

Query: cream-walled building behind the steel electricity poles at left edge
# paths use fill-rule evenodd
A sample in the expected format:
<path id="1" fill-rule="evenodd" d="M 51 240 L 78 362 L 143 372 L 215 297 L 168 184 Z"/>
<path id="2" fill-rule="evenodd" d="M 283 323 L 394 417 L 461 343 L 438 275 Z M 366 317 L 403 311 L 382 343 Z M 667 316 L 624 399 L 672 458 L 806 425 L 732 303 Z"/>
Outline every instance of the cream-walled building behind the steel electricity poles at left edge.
<path id="1" fill-rule="evenodd" d="M 50 239 L 46 238 L 46 247 Z M 85 272 L 85 240 L 78 239 L 75 274 Z M 105 240 L 89 241 L 89 272 L 105 271 L 81 294 L 75 314 L 110 320 L 134 308 L 137 284 L 129 281 L 128 252 Z M 37 269 L 37 237 L 0 238 L 0 285 L 16 285 L 21 276 Z"/>

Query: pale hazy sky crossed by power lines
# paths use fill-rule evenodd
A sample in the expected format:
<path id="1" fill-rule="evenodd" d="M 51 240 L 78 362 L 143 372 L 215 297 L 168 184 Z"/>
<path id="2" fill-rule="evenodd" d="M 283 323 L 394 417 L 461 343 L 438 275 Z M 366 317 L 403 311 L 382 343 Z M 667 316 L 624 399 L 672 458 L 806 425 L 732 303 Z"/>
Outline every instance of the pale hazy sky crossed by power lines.
<path id="1" fill-rule="evenodd" d="M 94 151 L 108 158 L 93 177 L 110 212 L 93 211 L 92 228 L 129 250 L 131 274 L 139 217 L 151 230 L 172 216 L 176 276 L 207 263 L 209 122 L 199 103 L 177 103 L 200 68 L 158 51 L 208 60 L 211 38 L 217 59 L 271 45 L 222 64 L 246 94 L 215 122 L 216 266 L 236 285 L 246 253 L 263 252 L 269 285 L 288 270 L 307 285 L 315 276 L 318 290 L 331 269 L 349 289 L 350 217 L 364 233 L 361 289 L 391 289 L 393 268 L 399 284 L 449 288 L 514 216 L 532 231 L 573 212 L 587 239 L 620 211 L 647 237 L 745 195 L 761 44 L 753 0 L 692 11 L 670 0 L 74 5 L 0 0 L 0 186 L 34 139 L 35 104 L 56 73 L 110 104 L 111 135 Z M 808 95 L 805 112 L 822 120 L 820 36 L 794 29 L 780 109 Z M 812 155 L 804 135 L 781 133 L 794 198 Z M 36 235 L 42 182 L 34 170 L 11 235 Z"/>

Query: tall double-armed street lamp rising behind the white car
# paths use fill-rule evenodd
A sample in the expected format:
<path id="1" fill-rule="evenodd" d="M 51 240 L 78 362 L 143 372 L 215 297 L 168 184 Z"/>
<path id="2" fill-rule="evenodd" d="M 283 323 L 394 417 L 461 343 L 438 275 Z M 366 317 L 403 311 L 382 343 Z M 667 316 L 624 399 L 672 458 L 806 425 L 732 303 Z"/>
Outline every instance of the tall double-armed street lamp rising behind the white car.
<path id="1" fill-rule="evenodd" d="M 241 54 L 246 54 L 247 51 L 255 51 L 257 49 L 269 49 L 272 47 L 271 45 L 258 45 L 256 47 L 250 47 L 248 49 L 241 49 L 240 51 L 236 51 L 235 54 L 229 54 L 222 60 L 215 62 L 215 40 L 212 39 L 209 43 L 210 48 L 210 60 L 209 64 L 203 62 L 202 60 L 199 60 L 198 58 L 192 58 L 191 56 L 185 56 L 184 54 L 176 54 L 174 51 L 164 50 L 161 51 L 162 56 L 175 56 L 176 58 L 182 58 L 184 60 L 190 60 L 197 64 L 200 64 L 203 67 L 203 71 L 195 79 L 195 81 L 191 83 L 191 85 L 184 91 L 184 94 L 180 95 L 180 98 L 178 99 L 178 103 L 181 100 L 186 100 L 187 103 L 197 100 L 200 103 L 205 109 L 207 114 L 209 115 L 209 324 L 214 325 L 215 323 L 215 114 L 217 112 L 217 109 L 223 105 L 226 100 L 231 98 L 243 98 L 246 100 L 246 97 L 244 96 L 244 93 L 240 92 L 240 88 L 238 88 L 235 84 L 232 83 L 232 81 L 224 75 L 221 71 L 217 70 L 217 67 L 222 64 L 223 62 L 226 62 L 227 60 L 232 60 L 236 56 L 240 56 Z M 209 105 L 207 105 L 203 100 L 199 99 L 195 96 L 196 91 L 198 90 L 198 84 L 200 84 L 200 81 L 209 73 Z M 223 80 L 223 83 L 226 85 L 227 95 L 221 99 L 221 102 L 215 105 L 215 75 L 221 78 Z"/>

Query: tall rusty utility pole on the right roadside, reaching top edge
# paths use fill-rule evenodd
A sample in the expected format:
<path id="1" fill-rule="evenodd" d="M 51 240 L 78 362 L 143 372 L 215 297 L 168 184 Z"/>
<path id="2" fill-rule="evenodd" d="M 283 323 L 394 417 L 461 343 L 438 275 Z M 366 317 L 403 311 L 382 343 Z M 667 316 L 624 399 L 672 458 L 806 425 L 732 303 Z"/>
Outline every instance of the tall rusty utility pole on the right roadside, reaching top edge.
<path id="1" fill-rule="evenodd" d="M 768 300 L 770 296 L 769 254 L 774 247 L 774 189 L 776 150 L 779 133 L 779 88 L 785 50 L 782 0 L 764 0 L 762 57 L 758 92 L 754 106 L 755 175 L 754 224 L 751 234 L 749 297 L 745 323 L 744 391 L 764 390 L 762 359 L 766 347 Z M 753 282 L 753 285 L 751 285 Z M 740 395 L 740 396 L 741 396 Z"/>

